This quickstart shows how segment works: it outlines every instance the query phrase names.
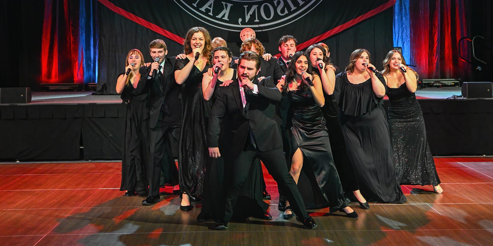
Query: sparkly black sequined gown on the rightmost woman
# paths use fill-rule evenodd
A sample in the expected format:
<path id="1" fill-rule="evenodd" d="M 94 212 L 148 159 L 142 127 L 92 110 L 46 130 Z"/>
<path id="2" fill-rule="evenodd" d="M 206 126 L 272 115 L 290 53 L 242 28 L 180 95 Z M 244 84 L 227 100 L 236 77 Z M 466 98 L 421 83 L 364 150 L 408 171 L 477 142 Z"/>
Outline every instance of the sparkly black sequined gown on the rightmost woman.
<path id="1" fill-rule="evenodd" d="M 405 83 L 388 88 L 387 122 L 390 130 L 395 174 L 399 184 L 440 184 L 435 162 L 426 140 L 423 113 Z"/>

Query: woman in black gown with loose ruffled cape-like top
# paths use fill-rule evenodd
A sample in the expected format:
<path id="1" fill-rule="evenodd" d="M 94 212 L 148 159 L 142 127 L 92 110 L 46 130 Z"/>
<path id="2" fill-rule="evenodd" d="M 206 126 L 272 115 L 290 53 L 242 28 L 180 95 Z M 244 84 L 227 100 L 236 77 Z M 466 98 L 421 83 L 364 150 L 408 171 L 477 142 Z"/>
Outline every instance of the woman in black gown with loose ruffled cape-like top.
<path id="1" fill-rule="evenodd" d="M 334 97 L 339 119 L 361 194 L 369 201 L 404 203 L 406 197 L 395 179 L 390 137 L 380 103 L 387 86 L 371 69 L 369 52 L 352 52 L 346 71 L 337 74 Z"/>

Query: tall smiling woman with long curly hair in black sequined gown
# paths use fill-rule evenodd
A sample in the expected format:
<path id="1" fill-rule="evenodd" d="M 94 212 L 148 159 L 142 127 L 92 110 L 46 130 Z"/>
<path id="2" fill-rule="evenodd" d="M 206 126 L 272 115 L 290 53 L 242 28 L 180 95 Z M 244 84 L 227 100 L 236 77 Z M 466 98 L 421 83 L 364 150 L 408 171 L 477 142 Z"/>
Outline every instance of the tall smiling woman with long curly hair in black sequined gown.
<path id="1" fill-rule="evenodd" d="M 202 200 L 206 167 L 211 158 L 207 149 L 207 115 L 210 105 L 202 94 L 203 73 L 211 67 L 211 35 L 202 27 L 188 30 L 183 42 L 186 59 L 176 59 L 176 83 L 183 85 L 183 117 L 178 146 L 178 174 L 182 211 Z M 198 59 L 195 59 L 196 54 Z"/>

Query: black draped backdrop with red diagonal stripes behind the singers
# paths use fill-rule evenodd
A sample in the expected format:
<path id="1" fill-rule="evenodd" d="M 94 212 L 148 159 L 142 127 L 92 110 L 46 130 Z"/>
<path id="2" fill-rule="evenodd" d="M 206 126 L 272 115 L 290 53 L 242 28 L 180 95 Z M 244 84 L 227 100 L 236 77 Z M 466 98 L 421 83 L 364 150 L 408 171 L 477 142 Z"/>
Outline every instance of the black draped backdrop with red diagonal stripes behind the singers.
<path id="1" fill-rule="evenodd" d="M 365 30 L 346 35 L 336 43 L 352 45 L 345 50 L 378 47 L 387 53 L 392 47 L 391 6 L 395 0 L 99 0 L 100 49 L 98 93 L 114 93 L 114 81 L 123 68 L 125 55 L 132 48 L 148 56 L 148 43 L 162 38 L 168 45 L 168 56 L 183 52 L 183 37 L 191 27 L 208 29 L 211 37 L 220 36 L 239 55 L 240 31 L 251 28 L 267 53 L 276 55 L 278 40 L 290 34 L 298 40 L 298 50 L 317 42 L 329 42 L 336 34 L 361 26 L 375 15 L 387 12 L 384 18 L 367 25 Z M 389 9 L 390 8 L 390 9 Z M 386 11 L 387 10 L 387 11 Z M 367 20 L 369 19 L 370 20 Z M 365 21 L 366 20 L 366 21 Z M 360 28 L 361 29 L 361 28 Z M 382 33 L 385 31 L 385 33 Z M 357 41 L 355 41 L 357 40 Z M 367 40 L 371 46 L 366 46 Z M 327 43 L 328 44 L 328 43 Z M 355 46 L 355 45 L 359 46 Z M 331 54 L 338 48 L 329 44 Z M 382 50 L 380 50 L 382 49 Z M 340 66 L 348 60 L 341 54 Z M 385 56 L 378 55 L 378 57 Z M 333 55 L 331 56 L 333 59 Z M 375 56 L 374 56 L 375 57 Z M 342 62 L 344 61 L 344 62 Z M 378 62 L 377 62 L 378 61 Z M 338 61 L 339 62 L 339 61 Z M 379 67 L 381 60 L 374 60 Z M 114 80 L 114 81 L 113 81 Z M 105 82 L 107 84 L 105 84 Z"/>

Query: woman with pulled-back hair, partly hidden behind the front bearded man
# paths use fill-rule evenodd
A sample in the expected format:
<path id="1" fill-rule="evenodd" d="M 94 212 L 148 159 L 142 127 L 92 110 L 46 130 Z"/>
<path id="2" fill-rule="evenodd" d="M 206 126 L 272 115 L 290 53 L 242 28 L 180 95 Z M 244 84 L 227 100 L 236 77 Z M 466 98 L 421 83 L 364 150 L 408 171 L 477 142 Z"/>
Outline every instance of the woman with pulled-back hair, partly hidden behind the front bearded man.
<path id="1" fill-rule="evenodd" d="M 211 105 L 216 100 L 219 85 L 225 81 L 237 80 L 238 78 L 236 69 L 229 67 L 232 55 L 231 51 L 224 46 L 219 46 L 212 52 L 214 66 L 209 69 L 213 72 L 216 70 L 218 73 L 213 73 L 214 76 L 204 73 L 204 78 L 202 79 L 204 99 Z M 220 128 L 218 143 L 222 155 L 212 159 L 211 166 L 207 168 L 204 195 L 202 197 L 202 211 L 197 217 L 199 221 L 206 221 L 211 218 L 217 221 L 224 217 L 226 206 L 225 191 L 229 187 L 229 178 L 231 177 L 230 163 L 235 156 L 229 155 L 230 146 L 234 142 L 234 139 L 231 138 L 229 123 L 222 122 Z M 266 212 L 269 205 L 262 200 L 261 172 L 262 169 L 259 165 L 253 165 L 249 170 L 249 175 L 240 192 L 239 199 L 241 200 L 235 207 L 235 215 L 241 216 L 241 218 L 253 216 L 261 219 L 272 219 L 272 216 Z"/>

